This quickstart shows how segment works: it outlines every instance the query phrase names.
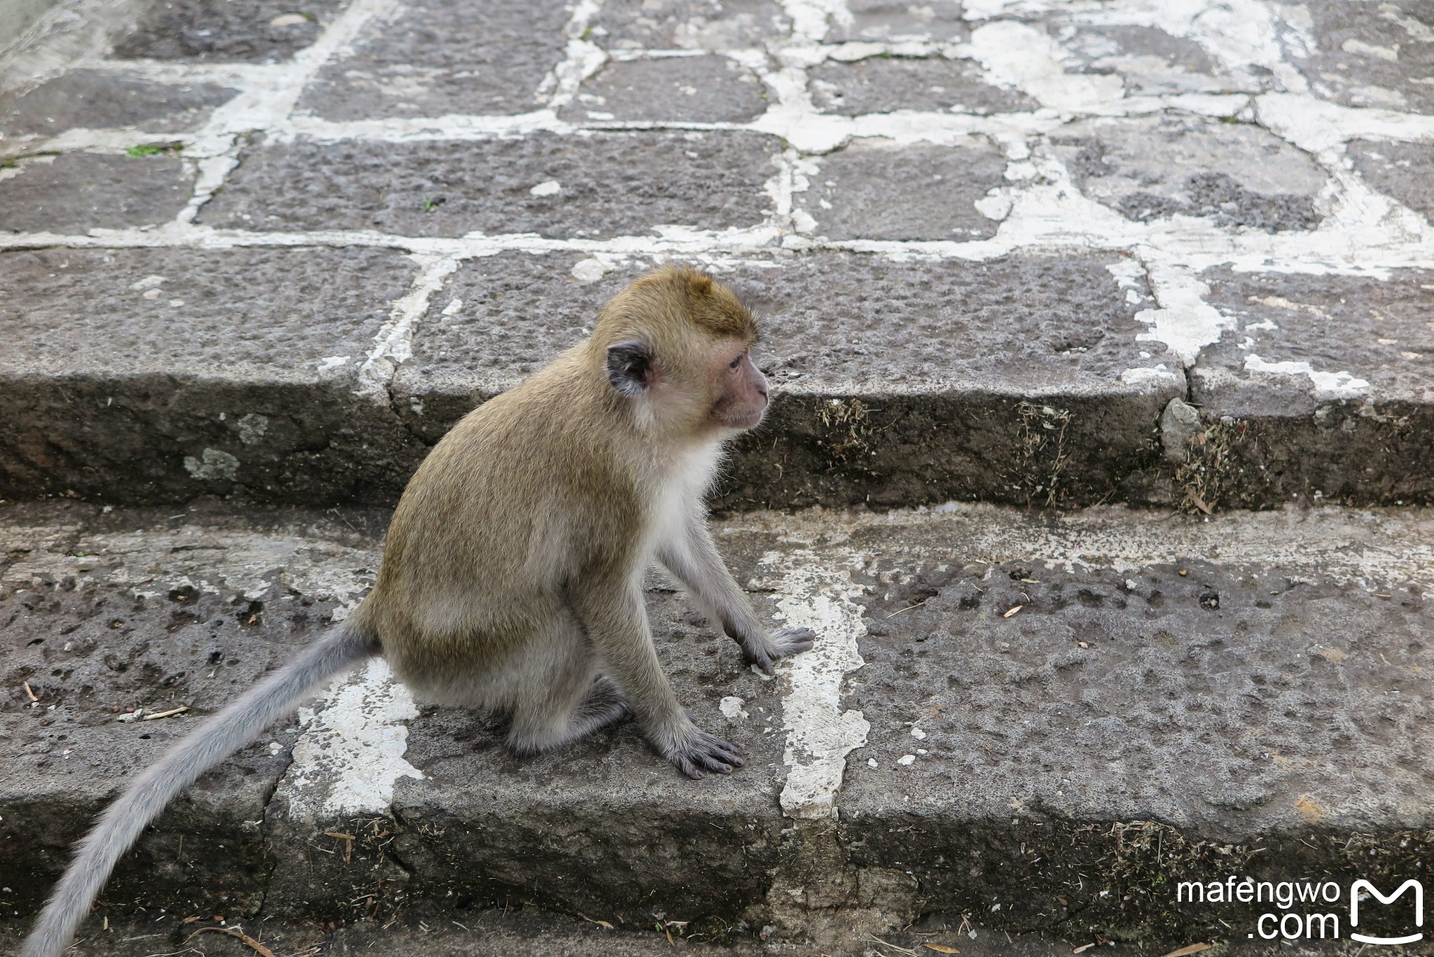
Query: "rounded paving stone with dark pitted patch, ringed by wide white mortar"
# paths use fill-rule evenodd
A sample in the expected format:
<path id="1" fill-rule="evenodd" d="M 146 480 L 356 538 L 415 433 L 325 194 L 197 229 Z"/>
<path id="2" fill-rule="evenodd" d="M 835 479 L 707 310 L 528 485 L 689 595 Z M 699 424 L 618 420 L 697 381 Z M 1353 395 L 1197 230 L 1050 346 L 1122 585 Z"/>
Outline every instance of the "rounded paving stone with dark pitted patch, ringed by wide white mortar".
<path id="1" fill-rule="evenodd" d="M 1325 174 L 1255 125 L 1156 113 L 1081 121 L 1051 142 L 1086 195 L 1140 222 L 1180 214 L 1271 232 L 1319 224 Z"/>

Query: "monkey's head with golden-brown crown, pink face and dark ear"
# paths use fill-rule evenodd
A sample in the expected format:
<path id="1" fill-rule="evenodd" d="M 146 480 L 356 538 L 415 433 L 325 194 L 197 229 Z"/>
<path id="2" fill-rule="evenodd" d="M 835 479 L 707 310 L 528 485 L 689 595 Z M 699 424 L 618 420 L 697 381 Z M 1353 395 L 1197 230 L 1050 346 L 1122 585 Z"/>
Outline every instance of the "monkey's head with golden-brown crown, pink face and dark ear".
<path id="1" fill-rule="evenodd" d="M 602 307 L 595 360 L 640 422 L 674 436 L 736 435 L 767 410 L 757 321 L 707 273 L 664 267 Z"/>

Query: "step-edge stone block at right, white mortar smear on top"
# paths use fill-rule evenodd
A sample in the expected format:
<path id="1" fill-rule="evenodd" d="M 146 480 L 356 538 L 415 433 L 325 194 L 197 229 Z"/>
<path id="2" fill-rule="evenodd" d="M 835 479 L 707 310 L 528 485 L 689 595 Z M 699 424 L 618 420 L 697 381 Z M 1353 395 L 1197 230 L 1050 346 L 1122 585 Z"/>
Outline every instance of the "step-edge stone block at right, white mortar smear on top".
<path id="1" fill-rule="evenodd" d="M 1215 478 L 1229 505 L 1434 499 L 1434 273 L 1219 268 L 1202 280 L 1206 301 L 1233 319 L 1190 379 L 1206 420 L 1223 422 L 1217 438 L 1229 451 Z"/>

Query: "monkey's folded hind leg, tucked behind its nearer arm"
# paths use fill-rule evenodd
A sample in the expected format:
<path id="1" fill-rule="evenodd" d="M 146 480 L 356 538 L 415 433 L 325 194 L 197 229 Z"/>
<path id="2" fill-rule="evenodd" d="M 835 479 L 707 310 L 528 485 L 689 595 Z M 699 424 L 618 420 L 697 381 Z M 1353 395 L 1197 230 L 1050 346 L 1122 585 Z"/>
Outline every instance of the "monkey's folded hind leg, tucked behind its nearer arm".
<path id="1" fill-rule="evenodd" d="M 576 740 L 630 713 L 617 686 L 597 673 L 597 660 L 575 621 L 536 640 L 519 676 L 508 748 L 536 755 Z"/>

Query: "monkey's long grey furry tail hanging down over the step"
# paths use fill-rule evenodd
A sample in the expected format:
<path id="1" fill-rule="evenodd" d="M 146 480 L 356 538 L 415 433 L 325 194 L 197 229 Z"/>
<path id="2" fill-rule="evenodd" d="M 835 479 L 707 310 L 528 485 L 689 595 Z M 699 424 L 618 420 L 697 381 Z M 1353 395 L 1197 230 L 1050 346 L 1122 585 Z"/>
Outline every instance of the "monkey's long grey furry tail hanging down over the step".
<path id="1" fill-rule="evenodd" d="M 176 793 L 258 737 L 330 679 L 379 650 L 377 637 L 340 624 L 166 750 L 75 845 L 75 859 L 54 885 L 20 957 L 59 957 L 89 914 L 115 862 Z"/>

